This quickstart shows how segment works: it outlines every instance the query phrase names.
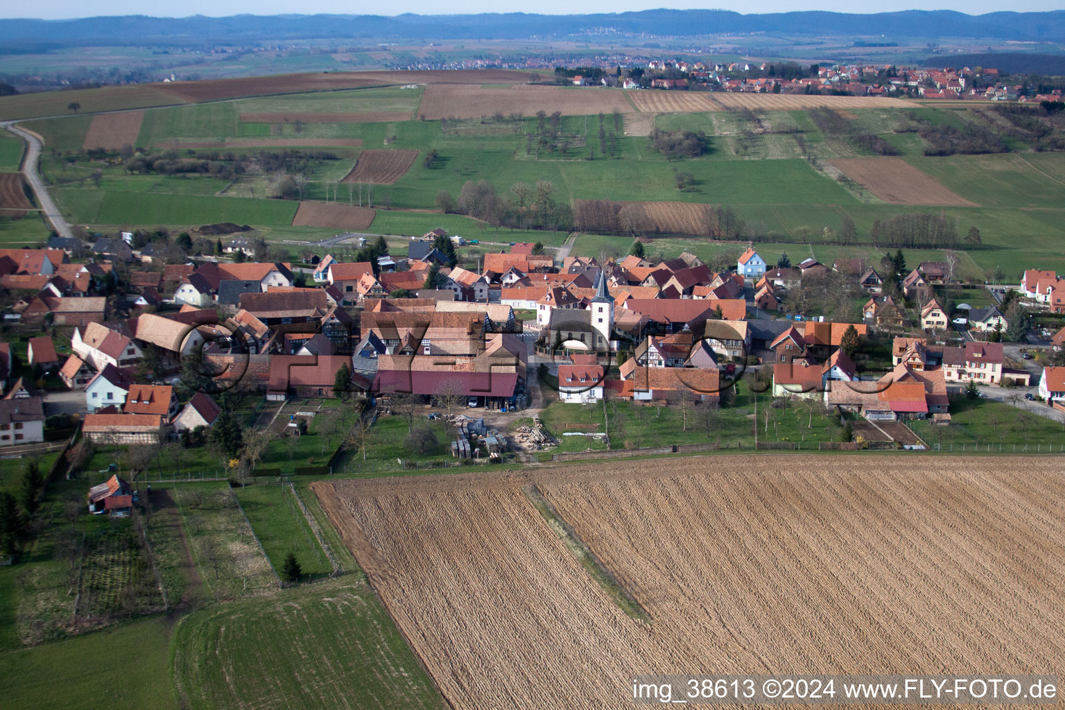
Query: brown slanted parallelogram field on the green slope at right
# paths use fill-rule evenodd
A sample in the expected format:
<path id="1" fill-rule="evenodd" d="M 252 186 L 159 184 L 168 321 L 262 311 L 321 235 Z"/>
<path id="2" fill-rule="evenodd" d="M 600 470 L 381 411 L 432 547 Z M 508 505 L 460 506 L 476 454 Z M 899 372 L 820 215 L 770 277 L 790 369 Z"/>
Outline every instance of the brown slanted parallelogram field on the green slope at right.
<path id="1" fill-rule="evenodd" d="M 848 158 L 829 162 L 885 202 L 979 207 L 901 158 Z"/>

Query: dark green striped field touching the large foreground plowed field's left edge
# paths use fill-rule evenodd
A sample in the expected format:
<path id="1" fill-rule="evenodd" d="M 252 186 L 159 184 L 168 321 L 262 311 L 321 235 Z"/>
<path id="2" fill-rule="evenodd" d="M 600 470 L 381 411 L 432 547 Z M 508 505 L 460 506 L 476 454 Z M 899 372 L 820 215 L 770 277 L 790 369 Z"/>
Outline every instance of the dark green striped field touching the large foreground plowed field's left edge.
<path id="1" fill-rule="evenodd" d="M 182 707 L 442 708 L 368 585 L 345 577 L 182 620 Z"/>

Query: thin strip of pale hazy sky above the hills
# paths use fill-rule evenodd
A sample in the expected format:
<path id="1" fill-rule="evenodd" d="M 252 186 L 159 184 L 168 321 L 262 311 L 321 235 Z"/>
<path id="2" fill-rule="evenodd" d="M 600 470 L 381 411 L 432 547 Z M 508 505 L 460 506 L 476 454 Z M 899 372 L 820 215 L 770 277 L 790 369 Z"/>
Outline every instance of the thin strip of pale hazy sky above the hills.
<path id="1" fill-rule="evenodd" d="M 694 2 L 686 0 L 670 0 L 669 2 L 650 2 L 640 0 L 592 0 L 575 5 L 571 0 L 542 0 L 535 5 L 517 3 L 501 4 L 494 0 L 458 0 L 452 4 L 430 2 L 430 0 L 396 0 L 387 5 L 367 5 L 363 3 L 344 2 L 343 0 L 318 0 L 307 4 L 288 0 L 184 0 L 169 5 L 145 4 L 143 0 L 99 0 L 86 4 L 83 0 L 42 0 L 32 4 L 5 2 L 0 6 L 0 17 L 39 17 L 43 19 L 65 19 L 95 15 L 154 15 L 187 17 L 190 15 L 224 15 L 255 14 L 274 15 L 283 13 L 335 13 L 344 15 L 398 15 L 402 13 L 433 14 L 469 14 L 497 13 L 515 10 L 537 12 L 545 15 L 573 14 L 575 11 L 587 12 L 626 12 L 669 6 L 676 9 L 719 7 L 750 13 L 776 13 L 796 10 L 829 10 L 849 13 L 875 13 L 889 10 L 956 10 L 970 15 L 1011 10 L 1014 12 L 1042 12 L 1061 10 L 1061 0 L 1025 0 L 1023 2 L 1002 2 L 1001 0 L 912 0 L 910 2 L 892 3 L 890 6 L 866 2 L 855 3 L 853 0 L 763 0 L 760 3 L 740 2 L 737 0 L 711 0 L 711 2 Z"/>

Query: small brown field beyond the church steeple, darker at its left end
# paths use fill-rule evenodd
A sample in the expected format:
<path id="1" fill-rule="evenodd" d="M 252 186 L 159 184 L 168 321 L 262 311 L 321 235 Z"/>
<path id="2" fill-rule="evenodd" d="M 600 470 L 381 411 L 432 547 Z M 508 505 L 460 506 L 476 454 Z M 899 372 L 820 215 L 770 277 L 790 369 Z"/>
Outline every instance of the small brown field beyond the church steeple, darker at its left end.
<path id="1" fill-rule="evenodd" d="M 706 234 L 710 207 L 698 202 L 611 202 L 577 200 L 581 231 Z"/>

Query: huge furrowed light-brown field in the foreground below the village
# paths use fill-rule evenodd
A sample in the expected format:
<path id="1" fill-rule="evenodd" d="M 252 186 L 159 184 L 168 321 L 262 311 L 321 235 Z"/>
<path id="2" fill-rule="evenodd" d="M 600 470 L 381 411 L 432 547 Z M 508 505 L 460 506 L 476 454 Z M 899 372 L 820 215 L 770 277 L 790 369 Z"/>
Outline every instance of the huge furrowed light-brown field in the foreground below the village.
<path id="1" fill-rule="evenodd" d="M 590 710 L 632 707 L 641 673 L 1054 673 L 1060 476 L 1049 458 L 735 456 L 312 489 L 450 707 Z"/>

